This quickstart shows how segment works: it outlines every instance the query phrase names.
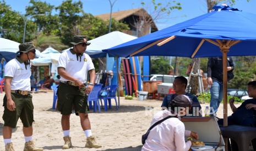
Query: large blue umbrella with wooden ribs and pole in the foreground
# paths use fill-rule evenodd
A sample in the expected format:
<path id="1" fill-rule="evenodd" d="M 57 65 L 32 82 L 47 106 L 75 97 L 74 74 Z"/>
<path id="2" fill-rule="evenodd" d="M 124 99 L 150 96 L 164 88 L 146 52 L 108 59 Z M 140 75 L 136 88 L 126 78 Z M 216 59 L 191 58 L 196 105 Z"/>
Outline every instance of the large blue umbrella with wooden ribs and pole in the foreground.
<path id="1" fill-rule="evenodd" d="M 213 9 L 208 14 L 104 51 L 125 57 L 222 56 L 224 126 L 227 126 L 227 55 L 256 55 L 256 15 L 228 6 L 215 6 Z"/>

